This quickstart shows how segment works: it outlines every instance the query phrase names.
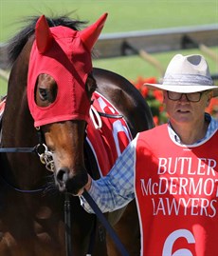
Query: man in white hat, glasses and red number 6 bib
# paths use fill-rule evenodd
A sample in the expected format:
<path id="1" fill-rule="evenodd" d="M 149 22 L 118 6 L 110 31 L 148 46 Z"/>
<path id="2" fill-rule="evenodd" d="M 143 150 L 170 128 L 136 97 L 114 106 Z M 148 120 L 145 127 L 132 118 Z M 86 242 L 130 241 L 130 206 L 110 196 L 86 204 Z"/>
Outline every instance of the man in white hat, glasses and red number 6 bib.
<path id="1" fill-rule="evenodd" d="M 218 122 L 205 113 L 217 87 L 208 64 L 177 54 L 163 84 L 147 86 L 163 90 L 169 123 L 138 133 L 110 173 L 84 188 L 104 212 L 136 197 L 142 256 L 218 255 Z"/>

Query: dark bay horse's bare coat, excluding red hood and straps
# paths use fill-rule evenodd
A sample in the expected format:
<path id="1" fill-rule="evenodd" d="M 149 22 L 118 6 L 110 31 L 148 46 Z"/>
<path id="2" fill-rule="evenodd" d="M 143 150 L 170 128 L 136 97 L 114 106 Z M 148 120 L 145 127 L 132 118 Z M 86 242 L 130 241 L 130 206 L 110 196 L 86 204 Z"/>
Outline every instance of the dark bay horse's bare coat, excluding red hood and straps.
<path id="1" fill-rule="evenodd" d="M 77 194 L 78 189 L 86 183 L 87 172 L 94 179 L 100 178 L 99 165 L 86 140 L 90 122 L 80 116 L 55 120 L 56 113 L 53 112 L 50 116 L 51 119 L 54 117 L 52 122 L 39 125 L 35 124 L 36 121 L 31 113 L 27 89 L 28 73 L 32 69 L 29 63 L 36 37 L 41 36 L 42 23 L 38 23 L 41 18 L 30 17 L 27 26 L 11 38 L 8 44 L 12 67 L 6 107 L 1 122 L 1 148 L 34 148 L 34 150 L 31 153 L 16 150 L 0 153 L 0 255 L 66 255 L 65 227 L 67 226 L 64 224 L 66 194 L 70 195 L 68 200 L 71 206 L 72 255 L 83 256 L 88 253 L 98 256 L 120 255 L 112 239 L 105 234 L 96 215 L 87 213 L 81 207 L 79 197 L 71 195 Z M 80 32 L 81 27 L 86 24 L 70 19 L 67 15 L 44 16 L 42 19 L 46 27 L 42 32 L 43 41 L 46 40 L 45 33 L 49 30 L 62 28 L 64 31 Z M 102 27 L 102 21 L 100 23 Z M 50 44 L 48 50 L 52 46 Z M 72 52 L 74 50 L 71 49 Z M 37 61 L 34 62 L 36 66 L 40 65 Z M 76 69 L 76 71 L 79 69 L 74 58 L 70 65 L 72 67 L 68 69 Z M 119 112 L 119 115 L 114 117 L 112 114 L 100 117 L 101 119 L 123 116 L 133 138 L 137 132 L 154 127 L 150 108 L 127 79 L 105 69 L 93 68 L 84 72 L 86 75 L 84 93 L 82 96 L 77 94 L 80 108 L 87 105 L 87 109 L 90 110 L 93 94 L 98 92 Z M 62 76 L 62 73 L 59 75 Z M 61 79 L 64 77 L 62 76 Z M 60 88 L 57 80 L 44 70 L 34 82 L 33 101 L 37 107 L 45 109 L 45 113 L 59 97 Z M 70 102 L 75 100 L 72 98 Z M 62 104 L 65 105 L 65 102 Z M 59 111 L 59 108 L 56 109 Z M 85 111 L 87 109 L 85 108 Z M 104 161 L 106 165 L 107 159 Z M 106 217 L 130 255 L 139 255 L 140 233 L 136 202 L 132 201 L 127 207 L 107 213 Z"/>

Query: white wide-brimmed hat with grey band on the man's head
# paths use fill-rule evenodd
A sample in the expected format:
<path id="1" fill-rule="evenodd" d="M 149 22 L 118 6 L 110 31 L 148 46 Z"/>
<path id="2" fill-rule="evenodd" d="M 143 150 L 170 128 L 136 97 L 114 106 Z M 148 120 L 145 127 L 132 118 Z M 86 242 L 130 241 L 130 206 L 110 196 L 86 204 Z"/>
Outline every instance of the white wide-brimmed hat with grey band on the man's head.
<path id="1" fill-rule="evenodd" d="M 213 85 L 208 63 L 202 55 L 176 54 L 166 69 L 162 84 L 146 83 L 145 86 L 180 93 L 211 89 L 213 95 L 218 96 L 218 87 Z"/>

